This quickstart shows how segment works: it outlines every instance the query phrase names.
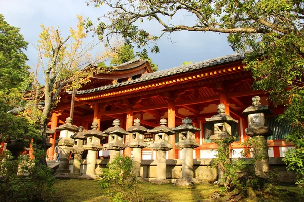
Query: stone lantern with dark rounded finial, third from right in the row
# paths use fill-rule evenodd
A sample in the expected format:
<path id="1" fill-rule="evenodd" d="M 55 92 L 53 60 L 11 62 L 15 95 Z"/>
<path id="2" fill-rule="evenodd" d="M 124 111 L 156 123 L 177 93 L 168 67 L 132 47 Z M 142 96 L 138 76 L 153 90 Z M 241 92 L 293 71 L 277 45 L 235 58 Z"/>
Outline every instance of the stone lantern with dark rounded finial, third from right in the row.
<path id="1" fill-rule="evenodd" d="M 182 149 L 182 180 L 192 182 L 193 179 L 193 149 L 198 147 L 200 144 L 195 143 L 195 132 L 201 131 L 201 129 L 191 125 L 192 120 L 188 117 L 182 120 L 182 125 L 172 128 L 176 134 L 179 135 L 179 142 L 175 145 Z M 183 185 L 184 183 L 181 183 Z M 186 183 L 189 184 L 189 183 Z M 179 183 L 177 182 L 177 185 Z"/>

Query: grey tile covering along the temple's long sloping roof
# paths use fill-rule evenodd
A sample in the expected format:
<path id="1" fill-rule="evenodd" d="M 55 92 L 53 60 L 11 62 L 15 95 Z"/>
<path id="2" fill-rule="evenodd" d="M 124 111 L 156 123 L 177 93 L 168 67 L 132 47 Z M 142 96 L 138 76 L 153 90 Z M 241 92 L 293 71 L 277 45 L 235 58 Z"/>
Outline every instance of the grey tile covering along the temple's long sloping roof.
<path id="1" fill-rule="evenodd" d="M 223 64 L 223 63 L 229 63 L 229 62 L 237 61 L 237 60 L 242 60 L 244 58 L 245 57 L 244 57 L 243 54 L 238 54 L 238 53 L 231 54 L 231 55 L 226 55 L 226 56 L 221 56 L 221 57 L 218 57 L 218 58 L 208 59 L 208 60 L 192 63 L 192 64 L 189 64 L 189 65 L 182 65 L 182 66 L 174 67 L 174 68 L 171 68 L 171 69 L 166 69 L 166 70 L 161 70 L 161 71 L 157 71 L 157 72 L 144 74 L 140 78 L 133 79 L 133 80 L 130 80 L 130 81 L 123 81 L 121 83 L 110 84 L 110 85 L 106 85 L 106 86 L 102 86 L 102 87 L 98 87 L 98 88 L 92 88 L 92 89 L 88 89 L 88 90 L 79 90 L 79 91 L 77 91 L 77 94 L 81 95 L 81 94 L 94 93 L 94 92 L 113 89 L 113 88 L 122 87 L 122 86 L 126 86 L 126 85 L 131 85 L 131 84 L 134 84 L 134 83 L 141 83 L 141 82 L 144 82 L 144 81 L 158 79 L 158 78 L 162 78 L 162 77 L 166 77 L 166 76 L 182 74 L 182 73 L 185 73 L 185 72 L 190 72 L 190 71 L 194 71 L 194 70 L 208 68 L 209 66 L 219 65 L 219 64 Z M 139 59 L 134 59 L 134 60 L 138 61 Z M 135 62 L 134 60 L 123 63 L 119 66 Z M 72 92 L 68 91 L 68 93 L 71 94 Z"/>

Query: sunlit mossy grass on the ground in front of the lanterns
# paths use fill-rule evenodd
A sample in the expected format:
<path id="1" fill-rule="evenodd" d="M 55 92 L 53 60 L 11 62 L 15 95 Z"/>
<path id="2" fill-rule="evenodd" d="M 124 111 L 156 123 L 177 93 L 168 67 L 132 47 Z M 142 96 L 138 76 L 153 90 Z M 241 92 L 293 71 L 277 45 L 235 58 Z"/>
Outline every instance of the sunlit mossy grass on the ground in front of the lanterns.
<path id="1" fill-rule="evenodd" d="M 140 184 L 140 195 L 146 201 L 220 201 L 212 200 L 211 196 L 219 190 L 217 185 L 196 185 L 192 188 L 178 187 L 173 184 L 155 185 L 150 183 Z M 100 188 L 96 180 L 71 179 L 57 180 L 57 189 L 51 199 L 56 202 L 97 202 L 106 201 L 104 194 L 106 190 Z M 263 192 L 249 194 L 249 198 L 244 201 L 304 201 L 300 195 L 300 189 L 288 186 L 270 186 Z"/>

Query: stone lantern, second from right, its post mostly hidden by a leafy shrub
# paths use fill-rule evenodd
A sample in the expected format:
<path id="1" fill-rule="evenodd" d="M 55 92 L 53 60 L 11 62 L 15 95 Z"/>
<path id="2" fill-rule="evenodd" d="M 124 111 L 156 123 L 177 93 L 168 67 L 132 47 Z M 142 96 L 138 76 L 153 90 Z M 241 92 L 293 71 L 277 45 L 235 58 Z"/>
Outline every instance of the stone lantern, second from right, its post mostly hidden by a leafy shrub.
<path id="1" fill-rule="evenodd" d="M 214 134 L 210 136 L 210 140 L 217 143 L 222 150 L 226 152 L 226 161 L 229 162 L 229 144 L 235 141 L 235 137 L 231 133 L 231 123 L 238 123 L 237 120 L 233 119 L 231 116 L 225 114 L 226 106 L 224 104 L 219 104 L 217 106 L 218 114 L 212 116 L 211 118 L 206 118 L 206 121 L 214 123 Z M 222 178 L 223 171 L 218 169 L 218 179 Z"/>

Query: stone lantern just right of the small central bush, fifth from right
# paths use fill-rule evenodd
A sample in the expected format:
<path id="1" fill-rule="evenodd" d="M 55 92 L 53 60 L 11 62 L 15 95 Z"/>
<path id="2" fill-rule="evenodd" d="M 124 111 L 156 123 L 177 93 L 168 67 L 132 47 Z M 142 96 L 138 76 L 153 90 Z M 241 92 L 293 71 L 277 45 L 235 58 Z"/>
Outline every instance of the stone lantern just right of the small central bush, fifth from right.
<path id="1" fill-rule="evenodd" d="M 144 142 L 144 134 L 147 133 L 147 129 L 140 125 L 140 119 L 134 120 L 134 125 L 127 129 L 127 132 L 131 133 L 131 141 L 126 145 L 133 148 L 133 160 L 134 160 L 134 173 L 137 177 L 140 176 L 141 165 L 141 149 L 148 146 Z"/>

